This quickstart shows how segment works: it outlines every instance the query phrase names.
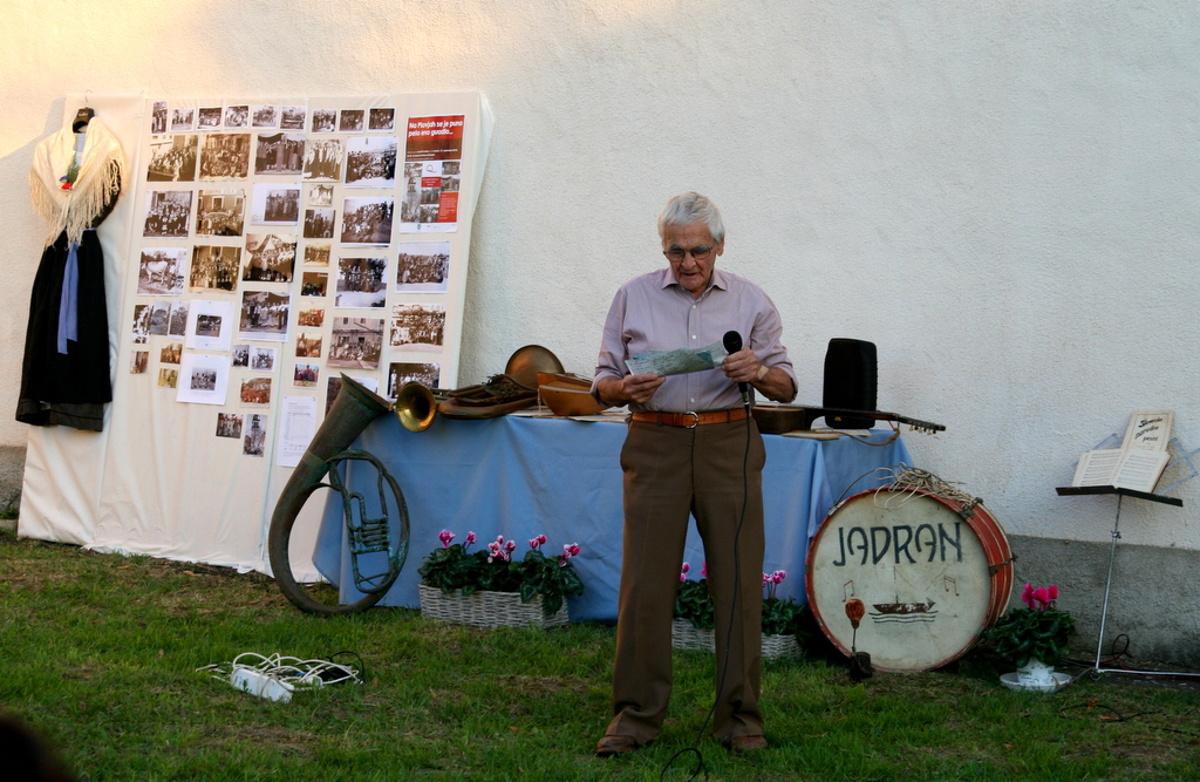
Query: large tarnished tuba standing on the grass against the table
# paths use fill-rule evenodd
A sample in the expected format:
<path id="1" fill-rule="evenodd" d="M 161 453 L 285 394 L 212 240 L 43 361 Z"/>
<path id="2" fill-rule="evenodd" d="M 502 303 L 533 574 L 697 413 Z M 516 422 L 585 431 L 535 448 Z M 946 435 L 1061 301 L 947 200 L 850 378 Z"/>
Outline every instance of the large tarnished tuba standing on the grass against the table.
<path id="1" fill-rule="evenodd" d="M 270 557 L 271 572 L 275 575 L 280 589 L 300 610 L 320 614 L 352 613 L 373 606 L 383 597 L 383 592 L 386 591 L 385 586 L 391 585 L 391 582 L 395 581 L 396 575 L 400 572 L 400 567 L 403 566 L 403 557 L 408 549 L 408 511 L 404 506 L 403 495 L 400 493 L 400 487 L 396 485 L 395 479 L 383 469 L 378 459 L 374 459 L 374 457 L 364 451 L 347 450 L 372 421 L 390 411 L 391 405 L 386 399 L 372 393 L 361 384 L 343 374 L 342 387 L 338 390 L 334 404 L 325 415 L 324 422 L 317 429 L 312 443 L 308 444 L 308 450 L 300 457 L 300 464 L 296 465 L 292 473 L 292 477 L 288 479 L 287 485 L 280 493 L 280 499 L 275 504 L 275 512 L 271 515 L 266 548 Z M 354 603 L 331 606 L 316 600 L 304 586 L 296 583 L 292 573 L 288 543 L 292 537 L 292 528 L 308 497 L 320 487 L 338 488 L 338 486 L 331 485 L 340 483 L 340 481 L 331 480 L 330 483 L 324 483 L 323 481 L 330 474 L 330 470 L 334 469 L 336 462 L 344 459 L 368 461 L 379 470 L 380 497 L 383 497 L 383 487 L 386 483 L 386 487 L 392 493 L 395 504 L 398 506 L 395 511 L 400 513 L 402 524 L 401 536 L 403 540 L 398 541 L 398 545 L 396 542 L 390 543 L 390 548 L 394 549 L 390 554 L 391 563 L 389 565 L 391 572 L 373 577 L 378 582 L 378 585 L 372 586 L 376 591 L 368 592 Z M 350 503 L 346 500 L 344 489 L 340 491 L 343 494 L 343 505 L 347 506 L 347 513 L 349 513 L 348 506 Z M 349 517 L 346 522 L 350 528 L 352 537 L 364 525 L 386 524 L 386 519 L 364 519 L 362 523 L 359 523 Z M 354 554 L 353 548 L 352 554 Z M 379 579 L 386 579 L 386 583 L 382 583 Z M 366 589 L 362 589 L 362 591 L 366 591 Z"/>

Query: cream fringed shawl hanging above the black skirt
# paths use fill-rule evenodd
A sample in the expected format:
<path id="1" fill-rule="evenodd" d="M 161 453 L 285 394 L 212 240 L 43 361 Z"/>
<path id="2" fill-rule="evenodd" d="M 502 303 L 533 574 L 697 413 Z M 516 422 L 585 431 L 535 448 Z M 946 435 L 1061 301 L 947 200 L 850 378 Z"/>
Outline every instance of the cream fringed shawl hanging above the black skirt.
<path id="1" fill-rule="evenodd" d="M 86 140 L 73 181 L 70 174 L 76 163 L 76 134 L 70 124 L 34 151 L 29 187 L 34 210 L 49 223 L 46 247 L 64 230 L 70 241 L 78 242 L 121 191 L 125 178 L 121 143 L 100 118 L 92 118 L 84 132 Z"/>

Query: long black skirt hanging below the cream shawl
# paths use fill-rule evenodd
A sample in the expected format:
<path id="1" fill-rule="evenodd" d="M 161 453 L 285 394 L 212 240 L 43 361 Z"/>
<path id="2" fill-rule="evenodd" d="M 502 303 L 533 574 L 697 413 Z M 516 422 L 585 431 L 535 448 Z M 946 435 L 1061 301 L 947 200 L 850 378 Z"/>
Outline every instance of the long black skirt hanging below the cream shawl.
<path id="1" fill-rule="evenodd" d="M 104 404 L 113 401 L 108 355 L 108 303 L 104 253 L 95 230 L 86 230 L 76 253 L 78 339 L 59 353 L 59 307 L 67 263 L 66 233 L 42 253 L 29 302 L 25 360 L 17 420 L 35 426 L 62 425 L 100 432 Z"/>

